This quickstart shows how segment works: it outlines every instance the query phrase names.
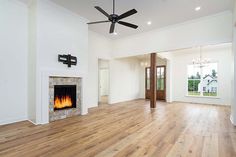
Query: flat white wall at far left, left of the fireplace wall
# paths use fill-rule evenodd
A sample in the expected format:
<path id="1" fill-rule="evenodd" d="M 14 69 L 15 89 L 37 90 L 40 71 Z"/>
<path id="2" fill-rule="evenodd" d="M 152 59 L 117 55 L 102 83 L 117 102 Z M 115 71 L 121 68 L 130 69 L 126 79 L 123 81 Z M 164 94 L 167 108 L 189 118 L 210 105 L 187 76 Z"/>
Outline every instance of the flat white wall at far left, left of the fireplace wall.
<path id="1" fill-rule="evenodd" d="M 27 119 L 27 7 L 0 1 L 0 125 Z"/>

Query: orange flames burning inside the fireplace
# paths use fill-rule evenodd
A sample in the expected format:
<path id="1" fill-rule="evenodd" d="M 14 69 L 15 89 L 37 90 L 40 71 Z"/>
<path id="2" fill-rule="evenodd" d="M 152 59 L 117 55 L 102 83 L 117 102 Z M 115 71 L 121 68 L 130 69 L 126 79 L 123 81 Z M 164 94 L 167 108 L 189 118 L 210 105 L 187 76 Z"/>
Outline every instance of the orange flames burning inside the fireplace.
<path id="1" fill-rule="evenodd" d="M 59 98 L 56 96 L 54 100 L 54 109 L 61 109 L 65 107 L 72 107 L 72 100 L 70 96 L 63 96 Z"/>

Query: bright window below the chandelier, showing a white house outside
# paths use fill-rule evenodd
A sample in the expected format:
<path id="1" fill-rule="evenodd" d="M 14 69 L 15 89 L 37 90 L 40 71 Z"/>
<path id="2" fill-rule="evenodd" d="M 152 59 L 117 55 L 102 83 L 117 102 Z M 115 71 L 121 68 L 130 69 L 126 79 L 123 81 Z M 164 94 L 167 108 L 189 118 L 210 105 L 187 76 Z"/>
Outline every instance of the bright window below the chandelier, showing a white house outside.
<path id="1" fill-rule="evenodd" d="M 208 63 L 204 66 L 188 65 L 188 95 L 215 97 L 217 93 L 217 63 Z"/>

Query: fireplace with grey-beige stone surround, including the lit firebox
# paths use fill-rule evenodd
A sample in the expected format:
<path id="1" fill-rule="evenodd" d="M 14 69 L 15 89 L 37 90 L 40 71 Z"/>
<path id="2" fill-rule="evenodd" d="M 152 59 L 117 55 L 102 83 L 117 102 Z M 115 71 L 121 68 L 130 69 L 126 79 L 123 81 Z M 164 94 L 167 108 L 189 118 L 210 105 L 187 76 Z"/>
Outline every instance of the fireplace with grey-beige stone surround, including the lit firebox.
<path id="1" fill-rule="evenodd" d="M 49 77 L 49 122 L 81 115 L 82 78 Z"/>

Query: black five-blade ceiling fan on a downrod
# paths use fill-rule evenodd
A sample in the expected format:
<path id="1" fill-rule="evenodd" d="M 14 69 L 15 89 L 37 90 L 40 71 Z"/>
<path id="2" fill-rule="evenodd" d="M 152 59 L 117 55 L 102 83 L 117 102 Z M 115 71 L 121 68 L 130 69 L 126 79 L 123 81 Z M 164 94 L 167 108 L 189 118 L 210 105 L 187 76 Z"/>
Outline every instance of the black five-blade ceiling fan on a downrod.
<path id="1" fill-rule="evenodd" d="M 111 22 L 111 26 L 110 26 L 110 33 L 114 33 L 115 31 L 115 25 L 116 23 L 119 23 L 121 25 L 124 25 L 124 26 L 127 26 L 127 27 L 131 27 L 131 28 L 134 28 L 134 29 L 137 29 L 138 26 L 137 25 L 134 25 L 134 24 L 131 24 L 131 23 L 128 23 L 128 22 L 124 22 L 124 21 L 120 21 L 128 16 L 131 16 L 133 14 L 136 14 L 137 13 L 137 10 L 135 9 L 132 9 L 130 11 L 127 11 L 121 15 L 117 15 L 115 14 L 115 0 L 113 0 L 113 13 L 111 15 L 109 15 L 107 12 L 105 12 L 101 7 L 99 6 L 95 6 L 95 8 L 100 11 L 103 15 L 105 15 L 108 20 L 105 20 L 105 21 L 96 21 L 96 22 L 90 22 L 88 23 L 89 25 L 91 24 L 98 24 L 98 23 L 107 23 L 107 22 Z"/>

